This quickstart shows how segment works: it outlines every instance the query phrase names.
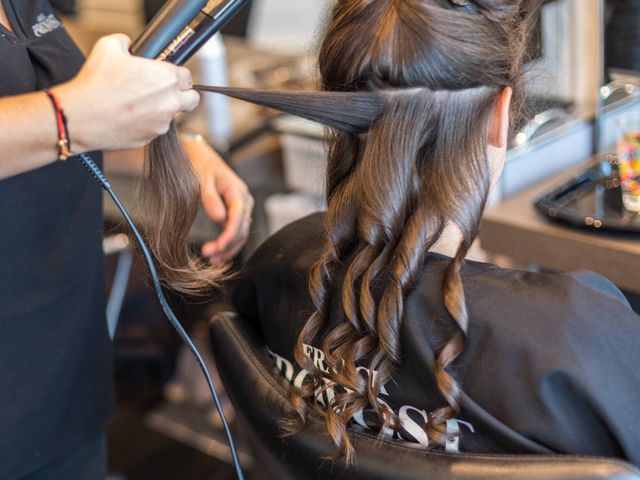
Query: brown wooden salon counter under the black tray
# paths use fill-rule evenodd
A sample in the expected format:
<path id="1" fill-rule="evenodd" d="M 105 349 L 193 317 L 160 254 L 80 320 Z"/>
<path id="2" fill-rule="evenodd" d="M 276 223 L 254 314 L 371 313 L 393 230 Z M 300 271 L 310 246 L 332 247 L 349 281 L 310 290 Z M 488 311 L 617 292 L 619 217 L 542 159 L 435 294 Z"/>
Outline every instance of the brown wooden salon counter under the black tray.
<path id="1" fill-rule="evenodd" d="M 594 160 L 490 208 L 480 231 L 482 249 L 548 270 L 592 270 L 624 290 L 640 293 L 640 235 L 574 229 L 547 220 L 534 208 L 538 197 Z"/>

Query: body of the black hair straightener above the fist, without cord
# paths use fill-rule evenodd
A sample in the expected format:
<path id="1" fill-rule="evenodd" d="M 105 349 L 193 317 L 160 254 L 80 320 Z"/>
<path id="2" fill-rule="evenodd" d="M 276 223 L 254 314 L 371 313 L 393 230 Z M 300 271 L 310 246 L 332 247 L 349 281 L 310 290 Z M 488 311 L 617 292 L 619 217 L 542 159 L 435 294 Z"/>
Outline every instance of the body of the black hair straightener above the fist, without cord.
<path id="1" fill-rule="evenodd" d="M 171 0 L 131 46 L 131 53 L 182 65 L 248 0 Z"/>

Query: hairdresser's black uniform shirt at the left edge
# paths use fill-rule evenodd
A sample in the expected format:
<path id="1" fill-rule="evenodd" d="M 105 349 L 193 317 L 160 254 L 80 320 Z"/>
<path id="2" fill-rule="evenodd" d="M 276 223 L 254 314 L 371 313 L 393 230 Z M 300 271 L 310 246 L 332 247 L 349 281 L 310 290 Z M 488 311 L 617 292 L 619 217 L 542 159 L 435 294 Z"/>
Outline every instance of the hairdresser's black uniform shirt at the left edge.
<path id="1" fill-rule="evenodd" d="M 4 4 L 16 36 L 0 30 L 0 96 L 77 73 L 82 54 L 47 1 Z M 2 480 L 100 434 L 111 416 L 101 242 L 101 191 L 77 158 L 0 181 Z"/>

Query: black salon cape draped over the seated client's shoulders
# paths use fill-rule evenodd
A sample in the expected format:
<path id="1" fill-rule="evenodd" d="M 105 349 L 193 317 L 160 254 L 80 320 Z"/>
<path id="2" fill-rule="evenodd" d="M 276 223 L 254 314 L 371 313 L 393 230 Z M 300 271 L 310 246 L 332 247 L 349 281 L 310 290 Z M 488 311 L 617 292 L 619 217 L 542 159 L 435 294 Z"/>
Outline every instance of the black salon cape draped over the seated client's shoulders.
<path id="1" fill-rule="evenodd" d="M 322 249 L 323 215 L 276 233 L 248 262 L 232 301 L 289 360 L 313 311 L 307 278 Z M 431 366 L 453 333 L 441 280 L 450 259 L 429 254 L 406 300 L 401 364 L 385 400 L 443 406 Z M 468 262 L 471 319 L 455 377 L 464 390 L 461 452 L 604 455 L 640 465 L 640 317 L 589 272 L 547 274 Z M 341 322 L 334 295 L 330 325 Z M 321 343 L 315 345 L 321 348 Z M 416 410 L 414 410 L 415 412 Z"/>

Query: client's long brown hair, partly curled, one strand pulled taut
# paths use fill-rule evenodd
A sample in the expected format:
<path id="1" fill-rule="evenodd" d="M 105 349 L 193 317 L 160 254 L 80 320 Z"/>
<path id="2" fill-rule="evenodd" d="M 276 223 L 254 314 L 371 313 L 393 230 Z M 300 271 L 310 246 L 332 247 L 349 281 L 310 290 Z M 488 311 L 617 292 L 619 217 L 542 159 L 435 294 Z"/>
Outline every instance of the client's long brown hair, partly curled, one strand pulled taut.
<path id="1" fill-rule="evenodd" d="M 378 397 L 401 361 L 405 299 L 429 249 L 455 225 L 462 241 L 442 282 L 455 333 L 437 352 L 433 368 L 442 407 L 425 427 L 431 445 L 447 440 L 446 423 L 459 410 L 461 395 L 450 367 L 464 349 L 470 322 L 461 268 L 491 186 L 488 125 L 503 88 L 513 89 L 513 105 L 519 105 L 534 3 L 338 0 L 319 57 L 323 92 L 197 87 L 329 127 L 325 240 L 309 278 L 315 312 L 294 352 L 312 380 L 292 390 L 296 415 L 288 428 L 302 428 L 310 408 L 320 412 L 347 463 L 354 461 L 348 433 L 354 414 L 372 409 L 380 432 L 397 425 Z M 171 161 L 150 162 L 152 189 L 167 185 L 166 172 L 154 176 L 158 163 Z M 171 206 L 166 189 L 156 198 L 169 208 L 179 205 Z M 156 232 L 175 228 L 162 224 L 156 222 Z M 175 272 L 186 272 L 187 280 L 177 282 L 182 287 L 206 283 L 190 276 L 189 268 Z M 329 328 L 336 296 L 344 321 Z M 344 387 L 326 409 L 315 398 L 328 384 L 305 355 L 305 344 L 322 346 L 330 381 Z M 377 374 L 360 375 L 363 364 Z"/>

